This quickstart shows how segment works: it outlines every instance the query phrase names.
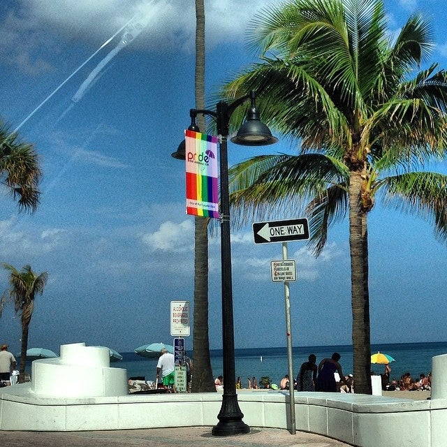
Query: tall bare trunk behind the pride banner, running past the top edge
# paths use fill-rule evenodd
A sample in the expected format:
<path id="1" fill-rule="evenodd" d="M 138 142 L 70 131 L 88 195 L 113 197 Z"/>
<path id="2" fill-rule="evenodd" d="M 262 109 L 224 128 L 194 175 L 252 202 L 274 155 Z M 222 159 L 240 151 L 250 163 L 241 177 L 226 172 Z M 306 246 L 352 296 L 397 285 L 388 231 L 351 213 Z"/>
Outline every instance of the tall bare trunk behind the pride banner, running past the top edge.
<path id="1" fill-rule="evenodd" d="M 205 109 L 205 5 L 196 0 L 196 108 Z M 197 117 L 200 131 L 206 131 L 205 117 Z M 212 376 L 210 339 L 208 334 L 208 222 L 194 219 L 194 323 L 193 379 L 191 391 L 216 391 Z"/>

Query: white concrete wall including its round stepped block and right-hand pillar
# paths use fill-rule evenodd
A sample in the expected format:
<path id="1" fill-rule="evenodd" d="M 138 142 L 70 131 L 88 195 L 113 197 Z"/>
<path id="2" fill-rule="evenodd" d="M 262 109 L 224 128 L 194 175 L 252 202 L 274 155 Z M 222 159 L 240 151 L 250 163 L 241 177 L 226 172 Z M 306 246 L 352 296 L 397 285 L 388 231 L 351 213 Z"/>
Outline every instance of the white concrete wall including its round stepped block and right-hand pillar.
<path id="1" fill-rule="evenodd" d="M 216 425 L 221 393 L 129 395 L 105 349 L 64 345 L 33 362 L 31 383 L 0 389 L 0 430 L 78 431 Z M 295 426 L 359 447 L 447 445 L 447 356 L 433 362 L 432 400 L 295 393 Z M 116 372 L 115 372 L 116 370 Z M 436 374 L 435 374 L 436 373 Z M 434 396 L 437 398 L 434 399 Z M 290 429 L 288 393 L 238 392 L 244 423 Z"/>

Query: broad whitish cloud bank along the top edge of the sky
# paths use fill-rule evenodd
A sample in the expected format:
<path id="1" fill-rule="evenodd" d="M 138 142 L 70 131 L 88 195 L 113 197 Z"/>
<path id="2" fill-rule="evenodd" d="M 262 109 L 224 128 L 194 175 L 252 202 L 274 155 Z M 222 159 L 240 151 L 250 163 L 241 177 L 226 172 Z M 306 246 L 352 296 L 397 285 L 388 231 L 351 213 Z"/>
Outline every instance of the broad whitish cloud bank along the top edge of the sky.
<path id="1" fill-rule="evenodd" d="M 205 2 L 207 49 L 219 43 L 243 41 L 249 20 L 268 3 L 267 0 Z M 64 51 L 64 42 L 84 41 L 94 51 L 132 17 L 137 20 L 141 17 L 140 21 L 147 24 L 130 48 L 193 52 L 196 27 L 193 1 L 21 0 L 0 19 L 0 54 L 6 63 L 20 67 L 25 73 L 47 73 L 55 68 L 50 57 Z M 41 54 L 44 49 L 46 58 Z"/>

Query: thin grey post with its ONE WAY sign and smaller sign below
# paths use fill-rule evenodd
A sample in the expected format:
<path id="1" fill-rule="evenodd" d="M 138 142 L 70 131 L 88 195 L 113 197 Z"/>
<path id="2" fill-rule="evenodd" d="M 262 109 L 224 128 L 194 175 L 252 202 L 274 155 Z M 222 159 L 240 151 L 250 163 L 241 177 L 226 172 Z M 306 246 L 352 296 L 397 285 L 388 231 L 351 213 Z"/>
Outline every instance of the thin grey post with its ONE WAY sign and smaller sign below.
<path id="1" fill-rule="evenodd" d="M 295 423 L 295 390 L 293 388 L 293 352 L 291 299 L 288 287 L 289 281 L 296 281 L 296 266 L 294 259 L 287 258 L 287 241 L 308 240 L 309 222 L 307 219 L 291 219 L 286 221 L 270 221 L 253 223 L 255 244 L 282 242 L 282 261 L 271 261 L 272 281 L 284 282 L 284 305 L 286 307 L 286 334 L 288 359 L 288 390 L 290 394 L 291 434 L 296 433 Z"/>

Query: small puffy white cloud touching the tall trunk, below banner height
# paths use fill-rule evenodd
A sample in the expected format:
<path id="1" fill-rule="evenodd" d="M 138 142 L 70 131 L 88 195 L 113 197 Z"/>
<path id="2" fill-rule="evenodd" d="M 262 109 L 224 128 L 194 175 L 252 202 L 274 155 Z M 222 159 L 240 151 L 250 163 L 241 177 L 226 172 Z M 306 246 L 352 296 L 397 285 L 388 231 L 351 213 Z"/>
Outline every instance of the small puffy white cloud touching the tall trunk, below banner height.
<path id="1" fill-rule="evenodd" d="M 175 253 L 193 250 L 193 239 L 194 225 L 191 220 L 182 223 L 163 222 L 159 230 L 141 237 L 142 242 L 154 251 Z"/>

